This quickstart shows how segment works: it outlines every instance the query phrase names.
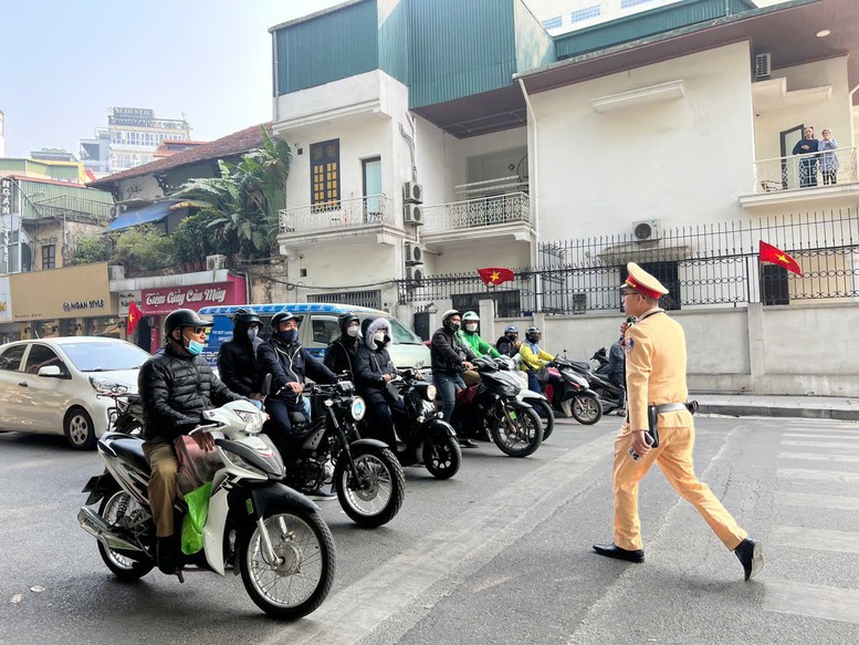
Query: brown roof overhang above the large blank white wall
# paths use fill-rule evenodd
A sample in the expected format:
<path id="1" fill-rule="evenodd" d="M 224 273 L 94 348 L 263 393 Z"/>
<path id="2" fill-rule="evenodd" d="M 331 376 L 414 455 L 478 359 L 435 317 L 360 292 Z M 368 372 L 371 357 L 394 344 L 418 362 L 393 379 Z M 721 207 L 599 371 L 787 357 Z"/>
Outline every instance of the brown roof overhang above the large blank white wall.
<path id="1" fill-rule="evenodd" d="M 818 38 L 821 30 L 830 34 Z M 857 0 L 793 0 L 589 52 L 517 77 L 528 93 L 546 92 L 742 41 L 750 42 L 753 54 L 771 53 L 773 69 L 852 54 L 848 82 L 850 89 L 859 84 Z"/>

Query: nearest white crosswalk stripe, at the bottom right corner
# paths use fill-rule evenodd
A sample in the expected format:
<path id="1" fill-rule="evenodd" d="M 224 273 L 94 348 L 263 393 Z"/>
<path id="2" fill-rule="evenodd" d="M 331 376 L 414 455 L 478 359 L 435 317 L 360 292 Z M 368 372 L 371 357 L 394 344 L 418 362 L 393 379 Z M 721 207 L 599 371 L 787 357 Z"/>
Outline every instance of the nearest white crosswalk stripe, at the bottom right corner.
<path id="1" fill-rule="evenodd" d="M 859 624 L 859 591 L 797 582 L 764 582 L 764 610 Z"/>

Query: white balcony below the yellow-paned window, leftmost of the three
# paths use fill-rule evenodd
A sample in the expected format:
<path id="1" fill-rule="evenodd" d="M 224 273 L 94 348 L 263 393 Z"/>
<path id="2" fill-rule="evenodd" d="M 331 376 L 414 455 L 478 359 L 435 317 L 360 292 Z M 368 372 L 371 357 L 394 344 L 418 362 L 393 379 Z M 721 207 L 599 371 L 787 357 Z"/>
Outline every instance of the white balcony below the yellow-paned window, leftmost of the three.
<path id="1" fill-rule="evenodd" d="M 394 199 L 370 195 L 327 204 L 284 208 L 279 211 L 277 242 L 281 249 L 294 249 L 321 241 L 366 241 L 394 243 L 405 237 L 394 217 Z"/>

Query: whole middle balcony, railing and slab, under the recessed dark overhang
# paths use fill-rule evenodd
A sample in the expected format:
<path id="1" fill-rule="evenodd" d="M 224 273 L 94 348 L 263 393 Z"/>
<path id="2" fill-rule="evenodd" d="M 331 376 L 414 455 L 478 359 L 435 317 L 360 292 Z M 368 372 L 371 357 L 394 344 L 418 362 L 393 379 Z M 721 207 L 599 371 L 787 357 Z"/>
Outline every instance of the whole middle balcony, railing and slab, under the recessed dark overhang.
<path id="1" fill-rule="evenodd" d="M 423 207 L 421 241 L 428 245 L 512 237 L 531 241 L 534 227 L 525 193 L 507 193 Z"/>

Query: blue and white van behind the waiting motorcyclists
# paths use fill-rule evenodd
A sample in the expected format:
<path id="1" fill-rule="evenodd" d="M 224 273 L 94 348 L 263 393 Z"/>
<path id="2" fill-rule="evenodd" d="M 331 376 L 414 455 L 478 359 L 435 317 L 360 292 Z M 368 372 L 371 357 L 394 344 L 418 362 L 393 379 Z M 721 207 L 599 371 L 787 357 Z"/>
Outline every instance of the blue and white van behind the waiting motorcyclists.
<path id="1" fill-rule="evenodd" d="M 206 340 L 202 356 L 214 366 L 218 361 L 218 350 L 221 343 L 232 339 L 232 316 L 238 309 L 252 309 L 262 320 L 260 335 L 268 339 L 271 335 L 271 318 L 280 311 L 289 311 L 300 319 L 298 340 L 301 344 L 322 360 L 325 350 L 333 340 L 341 335 L 337 318 L 344 313 L 354 313 L 362 319 L 376 320 L 386 318 L 390 321 L 391 344 L 388 346 L 390 357 L 397 367 L 429 368 L 429 347 L 420 336 L 385 311 L 367 306 L 350 306 L 348 304 L 324 304 L 316 302 L 276 303 L 276 304 L 230 304 L 222 306 L 203 306 L 202 318 L 212 319 L 212 331 Z"/>

